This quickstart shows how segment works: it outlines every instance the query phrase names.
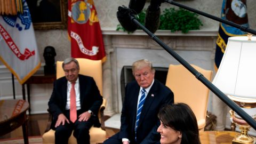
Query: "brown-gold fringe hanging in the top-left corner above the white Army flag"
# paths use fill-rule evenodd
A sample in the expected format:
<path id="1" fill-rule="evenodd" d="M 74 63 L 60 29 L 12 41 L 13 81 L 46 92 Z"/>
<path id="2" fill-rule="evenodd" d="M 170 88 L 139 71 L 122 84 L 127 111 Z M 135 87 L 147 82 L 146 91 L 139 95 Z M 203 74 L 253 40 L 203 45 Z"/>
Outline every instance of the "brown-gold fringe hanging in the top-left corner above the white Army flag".
<path id="1" fill-rule="evenodd" d="M 23 13 L 21 0 L 0 0 L 0 15 Z"/>

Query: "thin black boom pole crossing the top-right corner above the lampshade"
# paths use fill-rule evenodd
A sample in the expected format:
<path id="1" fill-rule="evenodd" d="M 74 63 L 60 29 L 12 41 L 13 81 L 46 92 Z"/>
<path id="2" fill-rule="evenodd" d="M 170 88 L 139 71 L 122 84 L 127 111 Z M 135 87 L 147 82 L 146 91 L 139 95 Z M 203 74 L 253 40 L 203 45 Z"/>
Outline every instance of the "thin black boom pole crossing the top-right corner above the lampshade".
<path id="1" fill-rule="evenodd" d="M 251 34 L 253 34 L 253 35 L 256 35 L 256 31 L 253 30 L 253 29 L 250 29 L 249 27 L 245 27 L 245 26 L 242 26 L 242 25 L 237 25 L 237 24 L 234 23 L 234 22 L 231 22 L 231 21 L 228 21 L 228 20 L 223 20 L 223 19 L 221 19 L 221 18 L 215 17 L 214 15 L 211 15 L 211 14 L 208 14 L 208 13 L 205 13 L 205 12 L 201 12 L 201 11 L 192 9 L 191 7 L 188 7 L 188 6 L 186 6 L 186 5 L 179 4 L 179 3 L 174 2 L 174 1 L 172 1 L 172 0 L 164 0 L 164 2 L 167 2 L 167 3 L 170 3 L 170 4 L 172 4 L 172 5 L 181 7 L 181 8 L 183 8 L 183 9 L 186 9 L 186 10 L 188 10 L 188 11 L 197 13 L 197 14 L 199 14 L 199 15 L 203 15 L 204 17 L 207 17 L 207 18 L 210 18 L 210 19 L 219 21 L 219 22 L 221 22 L 221 23 L 225 23 L 225 24 L 227 24 L 227 25 L 229 25 L 229 26 L 238 28 L 238 29 L 240 29 L 240 30 L 242 30 L 242 31 L 244 31 L 244 32 L 247 32 L 247 33 L 251 33 Z"/>

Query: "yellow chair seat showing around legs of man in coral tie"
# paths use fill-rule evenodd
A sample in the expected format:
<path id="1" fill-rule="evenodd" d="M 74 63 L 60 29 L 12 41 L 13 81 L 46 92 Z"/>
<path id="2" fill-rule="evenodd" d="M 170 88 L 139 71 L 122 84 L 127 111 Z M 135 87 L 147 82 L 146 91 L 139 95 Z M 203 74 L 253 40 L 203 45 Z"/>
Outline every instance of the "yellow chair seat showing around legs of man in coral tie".
<path id="1" fill-rule="evenodd" d="M 103 142 L 106 140 L 106 131 L 102 130 L 100 127 L 91 127 L 90 129 L 90 143 Z M 50 130 L 43 134 L 43 143 L 44 144 L 54 144 L 54 130 Z M 76 144 L 76 138 L 73 136 L 73 133 L 69 137 L 68 143 Z"/>

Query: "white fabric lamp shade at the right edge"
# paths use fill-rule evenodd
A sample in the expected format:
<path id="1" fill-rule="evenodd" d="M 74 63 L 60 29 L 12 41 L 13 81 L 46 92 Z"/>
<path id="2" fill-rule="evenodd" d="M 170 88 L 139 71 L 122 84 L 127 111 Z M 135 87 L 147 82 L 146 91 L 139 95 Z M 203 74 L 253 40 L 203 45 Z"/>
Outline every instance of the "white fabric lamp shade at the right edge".
<path id="1" fill-rule="evenodd" d="M 236 99 L 256 100 L 256 37 L 251 41 L 246 36 L 228 38 L 212 83 Z"/>

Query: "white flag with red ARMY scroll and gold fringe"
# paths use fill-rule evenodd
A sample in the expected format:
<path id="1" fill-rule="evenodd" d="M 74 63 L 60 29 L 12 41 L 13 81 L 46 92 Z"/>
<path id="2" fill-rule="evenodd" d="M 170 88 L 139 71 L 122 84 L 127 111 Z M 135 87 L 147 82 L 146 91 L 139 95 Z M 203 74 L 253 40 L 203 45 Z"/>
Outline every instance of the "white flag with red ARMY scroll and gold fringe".
<path id="1" fill-rule="evenodd" d="M 41 66 L 28 5 L 23 13 L 0 15 L 0 60 L 23 84 Z"/>

